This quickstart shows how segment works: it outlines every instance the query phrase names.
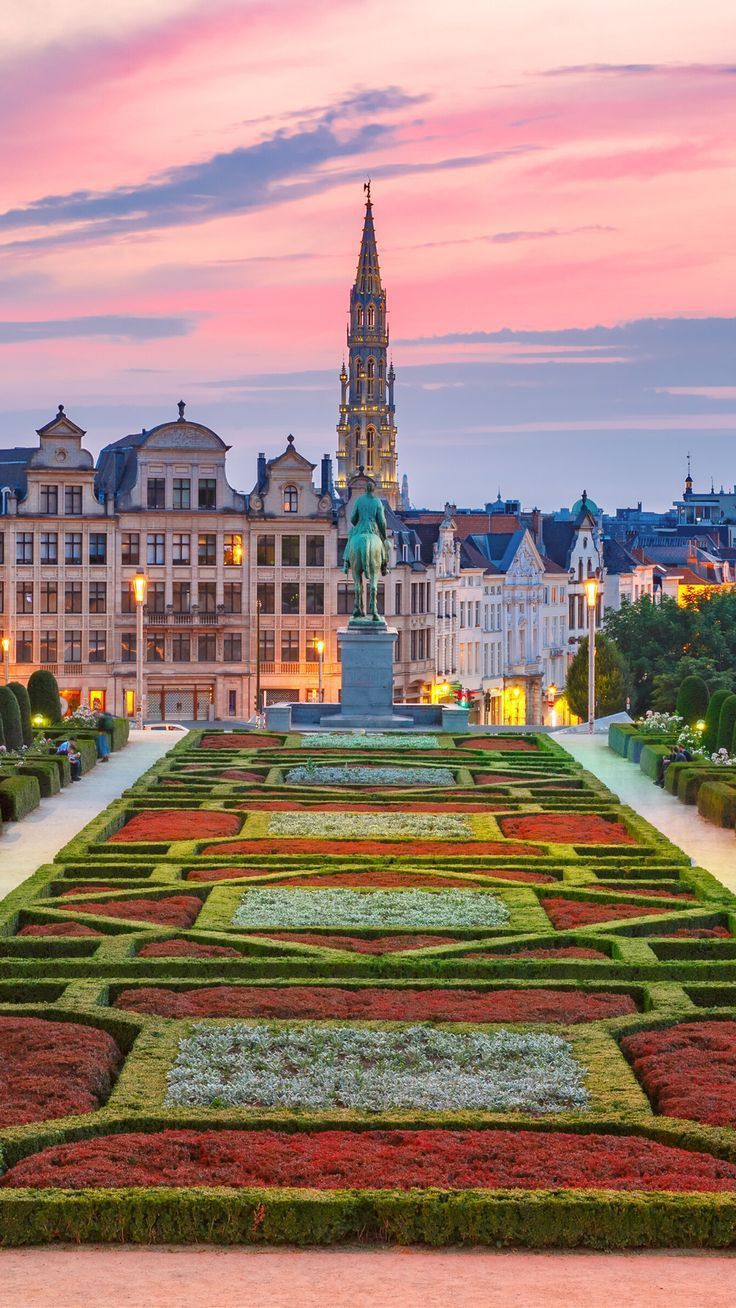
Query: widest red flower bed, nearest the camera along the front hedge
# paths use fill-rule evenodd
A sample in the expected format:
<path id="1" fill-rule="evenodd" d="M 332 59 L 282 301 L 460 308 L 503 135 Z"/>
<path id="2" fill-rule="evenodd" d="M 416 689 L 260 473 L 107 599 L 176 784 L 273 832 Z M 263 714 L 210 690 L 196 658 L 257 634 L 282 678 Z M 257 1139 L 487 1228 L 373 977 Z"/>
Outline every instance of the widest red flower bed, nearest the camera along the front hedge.
<path id="1" fill-rule="evenodd" d="M 565 1131 L 158 1131 L 52 1144 L 0 1186 L 736 1190 L 736 1164 L 635 1135 Z"/>

